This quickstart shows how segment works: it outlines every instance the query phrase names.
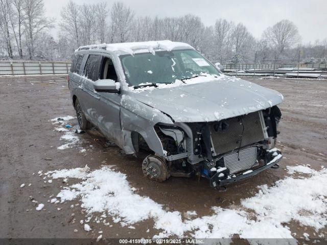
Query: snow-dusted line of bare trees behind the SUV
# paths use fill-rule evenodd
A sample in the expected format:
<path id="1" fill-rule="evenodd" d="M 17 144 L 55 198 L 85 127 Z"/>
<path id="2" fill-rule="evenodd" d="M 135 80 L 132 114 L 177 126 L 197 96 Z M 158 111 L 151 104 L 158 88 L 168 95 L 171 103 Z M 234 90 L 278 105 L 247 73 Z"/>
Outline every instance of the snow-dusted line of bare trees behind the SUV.
<path id="1" fill-rule="evenodd" d="M 61 10 L 58 37 L 51 35 L 54 19 L 45 16 L 43 0 L 0 0 L 0 56 L 5 59 L 69 60 L 75 48 L 95 43 L 148 40 L 181 41 L 210 60 L 326 58 L 327 39 L 301 45 L 293 22 L 284 19 L 256 39 L 243 23 L 218 18 L 205 26 L 201 18 L 136 16 L 121 2 L 78 5 L 69 1 Z"/>

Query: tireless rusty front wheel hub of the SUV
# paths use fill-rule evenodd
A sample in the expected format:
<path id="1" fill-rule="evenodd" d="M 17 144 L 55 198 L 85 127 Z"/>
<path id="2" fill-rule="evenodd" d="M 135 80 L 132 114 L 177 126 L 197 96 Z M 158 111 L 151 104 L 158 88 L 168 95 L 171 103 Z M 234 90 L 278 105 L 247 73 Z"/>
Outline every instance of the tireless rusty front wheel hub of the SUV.
<path id="1" fill-rule="evenodd" d="M 164 182 L 170 177 L 166 162 L 157 156 L 147 156 L 143 160 L 142 170 L 146 178 L 157 182 Z"/>

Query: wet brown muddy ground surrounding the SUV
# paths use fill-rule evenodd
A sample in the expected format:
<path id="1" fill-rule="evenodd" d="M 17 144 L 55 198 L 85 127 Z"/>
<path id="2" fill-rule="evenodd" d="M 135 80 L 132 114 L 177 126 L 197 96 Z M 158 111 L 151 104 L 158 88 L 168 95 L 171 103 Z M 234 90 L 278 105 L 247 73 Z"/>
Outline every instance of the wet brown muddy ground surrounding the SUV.
<path id="1" fill-rule="evenodd" d="M 158 231 L 152 229 L 153 221 L 136 224 L 135 230 L 120 227 L 104 227 L 90 223 L 92 232 L 85 232 L 79 222 L 83 219 L 81 208 L 70 205 L 47 203 L 49 196 L 60 190 L 60 181 L 44 183 L 37 175 L 39 170 L 84 167 L 91 169 L 102 164 L 114 164 L 128 176 L 137 193 L 146 195 L 164 204 L 169 210 L 180 212 L 196 210 L 199 215 L 210 214 L 212 206 L 230 207 L 240 200 L 252 197 L 257 186 L 272 185 L 287 174 L 287 165 L 311 164 L 315 169 L 327 165 L 327 81 L 305 79 L 251 79 L 260 85 L 273 88 L 284 94 L 285 102 L 280 106 L 283 120 L 278 137 L 278 148 L 283 151 L 279 169 L 268 169 L 259 175 L 231 184 L 225 192 L 209 187 L 209 183 L 197 178 L 170 178 L 165 183 L 155 183 L 143 177 L 143 159 L 121 155 L 119 148 L 106 146 L 105 140 L 96 133 L 80 135 L 85 146 L 92 144 L 85 153 L 76 148 L 57 150 L 63 142 L 61 134 L 49 122 L 51 118 L 73 115 L 75 111 L 69 99 L 65 76 L 0 77 L 0 237 L 97 237 L 103 230 L 106 237 L 151 237 Z M 73 124 L 77 124 L 74 119 Z M 45 160 L 52 159 L 52 160 Z M 33 173 L 35 173 L 33 175 Z M 19 186 L 25 183 L 24 188 Z M 31 186 L 28 184 L 31 183 Z M 30 196 L 45 204 L 35 211 Z M 132 204 L 131 204 L 132 205 Z M 150 228 L 150 232 L 146 230 Z M 74 232 L 77 229 L 78 232 Z M 296 224 L 291 230 L 314 237 L 313 231 Z M 322 231 L 326 234 L 326 230 Z"/>

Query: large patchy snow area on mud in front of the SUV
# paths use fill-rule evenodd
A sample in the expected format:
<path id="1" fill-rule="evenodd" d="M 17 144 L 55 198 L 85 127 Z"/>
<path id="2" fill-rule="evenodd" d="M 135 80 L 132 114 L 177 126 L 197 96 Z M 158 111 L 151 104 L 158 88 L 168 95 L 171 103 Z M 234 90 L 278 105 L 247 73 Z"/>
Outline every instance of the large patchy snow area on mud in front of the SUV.
<path id="1" fill-rule="evenodd" d="M 288 169 L 303 171 L 299 167 Z M 153 219 L 154 228 L 159 230 L 154 238 L 183 237 L 188 234 L 196 238 L 231 238 L 239 234 L 241 238 L 251 238 L 255 244 L 256 238 L 292 238 L 287 226 L 291 220 L 313 227 L 316 231 L 327 225 L 327 169 L 312 171 L 311 174 L 306 179 L 287 177 L 271 187 L 259 186 L 259 192 L 254 197 L 242 200 L 241 205 L 234 209 L 212 207 L 214 213 L 202 217 L 192 217 L 196 212 L 189 211 L 185 218 L 178 211 L 166 211 L 149 197 L 134 193 L 135 189 L 129 185 L 126 175 L 114 171 L 110 166 L 92 171 L 87 166 L 62 169 L 44 175 L 53 179 L 81 180 L 62 187 L 57 198 L 61 202 L 80 200 L 86 212 L 86 223 L 99 213 L 103 217 L 111 216 L 114 223 L 130 229 L 135 223 Z M 255 219 L 252 219 L 254 214 Z M 109 225 L 106 220 L 103 220 L 103 224 Z M 84 229 L 88 230 L 89 225 L 85 225 Z"/>

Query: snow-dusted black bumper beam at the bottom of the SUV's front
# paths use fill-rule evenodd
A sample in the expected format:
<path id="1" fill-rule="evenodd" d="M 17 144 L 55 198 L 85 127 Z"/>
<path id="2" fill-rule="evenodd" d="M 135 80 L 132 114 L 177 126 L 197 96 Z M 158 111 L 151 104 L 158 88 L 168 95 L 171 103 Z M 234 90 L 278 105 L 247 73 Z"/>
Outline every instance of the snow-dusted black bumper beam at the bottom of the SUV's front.
<path id="1" fill-rule="evenodd" d="M 261 171 L 275 166 L 279 162 L 279 160 L 281 160 L 281 158 L 282 158 L 282 154 L 279 152 L 276 156 L 273 157 L 272 160 L 270 160 L 268 163 L 266 163 L 266 165 L 263 165 L 262 167 L 257 168 L 255 170 L 244 171 L 244 173 L 241 173 L 237 176 L 232 175 L 232 176 L 227 176 L 227 178 L 222 179 L 222 178 L 219 178 L 219 173 L 217 173 L 210 179 L 210 185 L 211 185 L 211 187 L 216 188 L 216 187 L 225 186 L 225 185 L 249 178 L 251 176 L 257 175 Z"/>

